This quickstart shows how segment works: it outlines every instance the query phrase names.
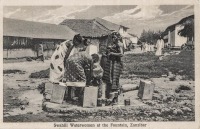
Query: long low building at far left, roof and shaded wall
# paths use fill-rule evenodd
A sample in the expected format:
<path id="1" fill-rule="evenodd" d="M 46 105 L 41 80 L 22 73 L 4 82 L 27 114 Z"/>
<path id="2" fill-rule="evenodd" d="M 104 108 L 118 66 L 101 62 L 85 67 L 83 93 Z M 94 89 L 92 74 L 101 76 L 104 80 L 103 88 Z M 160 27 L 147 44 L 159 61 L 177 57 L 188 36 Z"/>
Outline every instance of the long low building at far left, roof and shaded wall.
<path id="1" fill-rule="evenodd" d="M 35 57 L 39 44 L 51 57 L 57 44 L 76 34 L 67 26 L 3 18 L 3 58 Z"/>

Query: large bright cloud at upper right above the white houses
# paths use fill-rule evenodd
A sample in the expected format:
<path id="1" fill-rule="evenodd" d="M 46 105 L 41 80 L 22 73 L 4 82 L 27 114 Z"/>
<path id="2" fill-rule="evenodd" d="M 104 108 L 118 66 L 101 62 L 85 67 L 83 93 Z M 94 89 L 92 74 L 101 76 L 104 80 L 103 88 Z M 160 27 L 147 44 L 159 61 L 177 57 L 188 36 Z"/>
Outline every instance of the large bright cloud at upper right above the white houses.
<path id="1" fill-rule="evenodd" d="M 194 14 L 191 5 L 166 5 L 165 10 L 160 6 L 137 6 L 124 10 L 103 19 L 129 27 L 129 32 L 140 35 L 142 30 L 165 30 L 167 26 L 180 21 L 182 18 Z"/>

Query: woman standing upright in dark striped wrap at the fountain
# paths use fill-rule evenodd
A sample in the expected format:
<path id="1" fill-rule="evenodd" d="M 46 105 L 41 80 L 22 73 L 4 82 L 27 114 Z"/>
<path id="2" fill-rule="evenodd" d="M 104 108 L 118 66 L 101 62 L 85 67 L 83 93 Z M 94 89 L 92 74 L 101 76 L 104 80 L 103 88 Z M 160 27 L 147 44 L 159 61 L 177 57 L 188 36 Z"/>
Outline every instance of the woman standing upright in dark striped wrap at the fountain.
<path id="1" fill-rule="evenodd" d="M 118 33 L 113 34 L 113 45 L 108 50 L 108 60 L 102 78 L 107 84 L 107 98 L 109 98 L 110 92 L 118 92 L 120 88 L 119 77 L 123 68 L 121 60 L 123 56 L 123 43 L 120 42 L 120 35 Z"/>

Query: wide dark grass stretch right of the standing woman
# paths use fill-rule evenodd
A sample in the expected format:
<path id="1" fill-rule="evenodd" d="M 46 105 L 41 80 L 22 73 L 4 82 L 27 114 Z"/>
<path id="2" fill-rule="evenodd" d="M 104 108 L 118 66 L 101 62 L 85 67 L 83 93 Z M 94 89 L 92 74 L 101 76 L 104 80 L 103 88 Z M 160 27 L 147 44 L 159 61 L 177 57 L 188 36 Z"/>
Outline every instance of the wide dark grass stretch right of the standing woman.
<path id="1" fill-rule="evenodd" d="M 171 71 L 184 76 L 186 80 L 194 80 L 194 51 L 181 51 L 179 55 L 169 55 L 163 60 L 159 60 L 154 53 L 127 54 L 123 61 L 124 75 L 161 77 Z"/>

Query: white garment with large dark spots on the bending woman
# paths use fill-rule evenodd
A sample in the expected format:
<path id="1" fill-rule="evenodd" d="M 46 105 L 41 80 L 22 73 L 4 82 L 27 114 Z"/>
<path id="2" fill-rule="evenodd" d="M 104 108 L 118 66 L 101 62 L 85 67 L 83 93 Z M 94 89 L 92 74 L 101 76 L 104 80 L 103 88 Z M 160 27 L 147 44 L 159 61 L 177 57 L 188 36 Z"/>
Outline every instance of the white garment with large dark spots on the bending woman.
<path id="1" fill-rule="evenodd" d="M 70 41 L 64 41 L 60 45 L 57 46 L 53 55 L 51 56 L 51 64 L 50 64 L 50 78 L 51 82 L 59 82 L 64 75 L 64 58 L 68 51 L 66 44 Z M 71 51 L 71 50 L 70 50 Z"/>

